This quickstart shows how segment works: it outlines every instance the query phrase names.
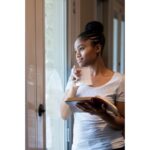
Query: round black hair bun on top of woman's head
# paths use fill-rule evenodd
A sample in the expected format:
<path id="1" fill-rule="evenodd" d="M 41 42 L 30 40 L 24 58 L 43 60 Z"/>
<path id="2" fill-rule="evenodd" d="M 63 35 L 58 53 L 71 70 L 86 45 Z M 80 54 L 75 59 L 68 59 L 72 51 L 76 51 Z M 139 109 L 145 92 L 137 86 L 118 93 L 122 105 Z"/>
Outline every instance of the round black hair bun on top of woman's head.
<path id="1" fill-rule="evenodd" d="M 101 34 L 104 30 L 103 24 L 98 21 L 91 21 L 85 25 L 85 31 L 91 33 Z"/>

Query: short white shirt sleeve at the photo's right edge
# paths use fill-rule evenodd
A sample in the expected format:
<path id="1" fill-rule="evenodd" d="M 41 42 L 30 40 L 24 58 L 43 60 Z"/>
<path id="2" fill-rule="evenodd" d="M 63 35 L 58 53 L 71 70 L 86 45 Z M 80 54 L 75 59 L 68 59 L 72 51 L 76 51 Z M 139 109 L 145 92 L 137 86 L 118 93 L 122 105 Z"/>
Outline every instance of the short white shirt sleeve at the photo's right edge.
<path id="1" fill-rule="evenodd" d="M 121 76 L 119 82 L 119 87 L 117 89 L 116 101 L 124 102 L 125 101 L 125 76 Z"/>

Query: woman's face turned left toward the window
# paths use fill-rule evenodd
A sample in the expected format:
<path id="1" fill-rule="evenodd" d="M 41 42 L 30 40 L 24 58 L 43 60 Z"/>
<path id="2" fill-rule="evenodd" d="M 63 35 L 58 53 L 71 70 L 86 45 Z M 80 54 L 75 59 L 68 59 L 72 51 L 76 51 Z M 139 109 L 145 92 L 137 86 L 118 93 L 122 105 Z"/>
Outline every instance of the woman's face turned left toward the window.
<path id="1" fill-rule="evenodd" d="M 92 46 L 90 40 L 77 39 L 74 44 L 76 61 L 80 67 L 92 65 L 97 59 L 97 46 Z"/>

